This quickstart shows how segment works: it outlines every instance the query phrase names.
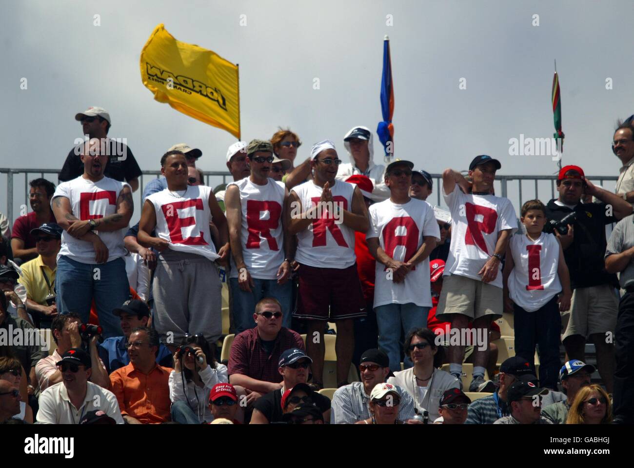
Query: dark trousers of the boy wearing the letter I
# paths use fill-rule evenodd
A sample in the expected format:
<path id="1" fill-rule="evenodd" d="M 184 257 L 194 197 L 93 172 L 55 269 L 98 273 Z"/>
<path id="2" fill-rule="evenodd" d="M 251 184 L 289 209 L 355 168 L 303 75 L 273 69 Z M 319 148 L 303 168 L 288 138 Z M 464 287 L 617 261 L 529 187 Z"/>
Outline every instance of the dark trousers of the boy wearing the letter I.
<path id="1" fill-rule="evenodd" d="M 557 390 L 559 370 L 559 334 L 561 315 L 557 296 L 534 312 L 527 312 L 517 304 L 515 309 L 515 356 L 522 356 L 535 371 L 535 345 L 540 356 L 540 386 Z"/>

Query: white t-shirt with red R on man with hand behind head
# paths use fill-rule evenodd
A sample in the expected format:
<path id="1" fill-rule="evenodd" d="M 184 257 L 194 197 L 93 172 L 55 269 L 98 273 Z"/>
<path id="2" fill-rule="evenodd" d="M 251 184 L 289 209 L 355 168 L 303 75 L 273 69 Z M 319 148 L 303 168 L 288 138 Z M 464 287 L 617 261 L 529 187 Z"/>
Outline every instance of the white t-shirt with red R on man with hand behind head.
<path id="1" fill-rule="evenodd" d="M 451 245 L 443 276 L 467 276 L 482 280 L 478 272 L 495 253 L 498 233 L 517 231 L 515 209 L 508 198 L 495 195 L 462 193 L 456 184 L 453 192 L 444 193 L 451 212 Z M 501 263 L 498 275 L 489 284 L 502 287 Z"/>

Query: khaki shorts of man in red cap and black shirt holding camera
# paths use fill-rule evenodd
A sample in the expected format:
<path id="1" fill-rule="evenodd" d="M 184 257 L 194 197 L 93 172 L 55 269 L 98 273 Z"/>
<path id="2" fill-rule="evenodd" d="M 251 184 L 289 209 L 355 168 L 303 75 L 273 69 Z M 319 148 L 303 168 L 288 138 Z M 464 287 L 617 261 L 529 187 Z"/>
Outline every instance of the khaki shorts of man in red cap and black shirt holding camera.
<path id="1" fill-rule="evenodd" d="M 572 335 L 582 335 L 586 339 L 593 334 L 614 333 L 619 299 L 611 285 L 577 288 L 573 292 L 570 311 L 562 313 L 566 330 L 562 340 Z"/>

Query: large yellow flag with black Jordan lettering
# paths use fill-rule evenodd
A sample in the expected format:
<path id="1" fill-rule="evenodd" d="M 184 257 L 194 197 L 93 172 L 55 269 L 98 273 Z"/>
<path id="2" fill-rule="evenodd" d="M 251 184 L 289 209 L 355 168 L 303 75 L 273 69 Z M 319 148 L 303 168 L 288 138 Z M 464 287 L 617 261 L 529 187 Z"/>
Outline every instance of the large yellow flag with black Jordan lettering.
<path id="1" fill-rule="evenodd" d="M 141 79 L 155 100 L 240 140 L 240 88 L 233 63 L 177 41 L 160 24 L 141 51 Z"/>

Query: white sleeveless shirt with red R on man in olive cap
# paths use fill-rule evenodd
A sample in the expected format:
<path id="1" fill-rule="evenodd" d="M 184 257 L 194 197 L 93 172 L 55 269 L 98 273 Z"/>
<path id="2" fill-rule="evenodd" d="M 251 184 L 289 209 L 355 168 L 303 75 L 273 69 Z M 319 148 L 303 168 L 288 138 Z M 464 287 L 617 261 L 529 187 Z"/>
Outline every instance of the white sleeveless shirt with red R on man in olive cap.
<path id="1" fill-rule="evenodd" d="M 266 185 L 257 185 L 248 177 L 229 185 L 235 185 L 240 190 L 240 244 L 244 263 L 254 278 L 275 280 L 284 261 L 281 212 L 285 185 L 271 178 L 267 179 Z M 230 278 L 237 277 L 238 269 L 231 256 Z"/>

